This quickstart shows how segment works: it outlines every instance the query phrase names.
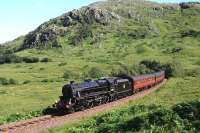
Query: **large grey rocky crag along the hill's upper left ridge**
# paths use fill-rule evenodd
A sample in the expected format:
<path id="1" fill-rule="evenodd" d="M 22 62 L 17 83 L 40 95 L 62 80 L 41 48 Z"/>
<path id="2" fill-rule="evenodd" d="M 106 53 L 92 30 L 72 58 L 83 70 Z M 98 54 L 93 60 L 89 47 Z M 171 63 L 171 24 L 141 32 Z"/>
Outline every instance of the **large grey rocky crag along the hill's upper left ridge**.
<path id="1" fill-rule="evenodd" d="M 79 10 L 73 10 L 60 17 L 50 20 L 39 26 L 35 31 L 25 36 L 21 49 L 37 47 L 59 47 L 57 38 L 66 33 L 70 26 L 81 24 L 99 23 L 107 25 L 112 19 L 118 18 L 112 12 L 94 7 L 83 7 Z"/>

